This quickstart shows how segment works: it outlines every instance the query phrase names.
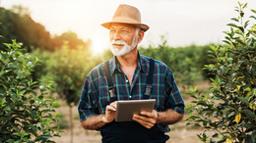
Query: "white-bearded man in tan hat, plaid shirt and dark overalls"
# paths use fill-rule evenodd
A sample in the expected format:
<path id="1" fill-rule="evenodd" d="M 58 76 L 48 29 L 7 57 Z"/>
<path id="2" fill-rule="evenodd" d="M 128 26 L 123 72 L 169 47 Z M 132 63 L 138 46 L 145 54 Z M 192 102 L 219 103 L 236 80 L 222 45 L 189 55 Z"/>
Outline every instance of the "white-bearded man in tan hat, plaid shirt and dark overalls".
<path id="1" fill-rule="evenodd" d="M 165 142 L 167 125 L 183 118 L 184 102 L 167 66 L 138 52 L 138 43 L 149 26 L 141 24 L 139 10 L 129 5 L 119 5 L 112 21 L 101 25 L 109 29 L 114 57 L 86 78 L 78 108 L 82 126 L 99 130 L 102 142 Z M 155 62 L 150 93 L 150 98 L 157 100 L 155 110 L 134 115 L 134 121 L 115 122 L 116 100 L 144 99 L 150 61 Z M 108 82 L 113 82 L 114 93 L 108 92 Z"/>

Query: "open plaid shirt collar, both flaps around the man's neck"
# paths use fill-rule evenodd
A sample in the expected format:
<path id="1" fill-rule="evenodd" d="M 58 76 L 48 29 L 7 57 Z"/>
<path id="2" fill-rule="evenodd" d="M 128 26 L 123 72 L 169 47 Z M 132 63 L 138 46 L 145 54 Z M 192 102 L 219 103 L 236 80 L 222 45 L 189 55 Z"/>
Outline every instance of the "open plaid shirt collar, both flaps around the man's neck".
<path id="1" fill-rule="evenodd" d="M 147 72 L 147 68 L 148 68 L 147 64 L 148 63 L 149 63 L 149 61 L 146 60 L 146 58 L 144 56 L 142 56 L 140 54 L 140 52 L 138 52 L 138 70 Z M 121 71 L 120 65 L 115 56 L 113 56 L 113 58 L 110 60 L 109 69 L 110 69 L 111 75 L 113 75 L 114 71 Z"/>

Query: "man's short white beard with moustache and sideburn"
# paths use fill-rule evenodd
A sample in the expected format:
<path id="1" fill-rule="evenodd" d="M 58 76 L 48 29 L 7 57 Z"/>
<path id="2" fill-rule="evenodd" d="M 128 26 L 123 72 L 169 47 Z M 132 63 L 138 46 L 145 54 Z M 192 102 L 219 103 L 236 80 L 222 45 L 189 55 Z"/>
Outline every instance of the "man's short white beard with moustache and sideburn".
<path id="1" fill-rule="evenodd" d="M 113 55 L 114 55 L 114 56 L 124 56 L 124 55 L 130 53 L 130 52 L 137 46 L 137 44 L 138 44 L 138 33 L 139 33 L 139 32 L 136 31 L 131 46 L 129 46 L 129 45 L 128 45 L 127 43 L 125 43 L 123 40 L 117 40 L 117 41 L 116 41 L 116 40 L 112 40 L 112 41 L 111 41 L 110 49 L 111 49 Z M 114 48 L 114 47 L 113 47 L 113 44 L 122 44 L 122 45 L 124 45 L 124 46 L 123 46 L 122 49 L 119 50 L 118 48 Z"/>

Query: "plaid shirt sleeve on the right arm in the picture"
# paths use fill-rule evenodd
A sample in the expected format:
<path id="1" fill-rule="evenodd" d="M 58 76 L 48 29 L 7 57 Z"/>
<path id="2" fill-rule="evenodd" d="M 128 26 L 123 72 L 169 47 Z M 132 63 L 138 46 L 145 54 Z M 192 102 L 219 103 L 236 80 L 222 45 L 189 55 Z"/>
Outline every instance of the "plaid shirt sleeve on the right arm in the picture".
<path id="1" fill-rule="evenodd" d="M 171 109 L 179 114 L 184 114 L 184 100 L 169 69 L 165 72 L 165 98 L 165 109 Z"/>

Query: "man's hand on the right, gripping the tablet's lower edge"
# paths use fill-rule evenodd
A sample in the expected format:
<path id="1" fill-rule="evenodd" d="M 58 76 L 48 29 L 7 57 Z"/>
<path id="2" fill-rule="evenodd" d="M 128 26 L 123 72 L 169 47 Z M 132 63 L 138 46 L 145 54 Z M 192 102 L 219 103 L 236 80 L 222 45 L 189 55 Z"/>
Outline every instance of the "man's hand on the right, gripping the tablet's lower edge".
<path id="1" fill-rule="evenodd" d="M 158 119 L 158 112 L 153 110 L 152 112 L 142 111 L 141 114 L 135 114 L 133 119 L 141 123 L 146 128 L 152 128 Z"/>

